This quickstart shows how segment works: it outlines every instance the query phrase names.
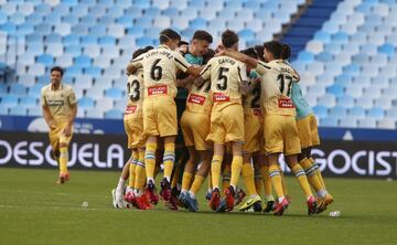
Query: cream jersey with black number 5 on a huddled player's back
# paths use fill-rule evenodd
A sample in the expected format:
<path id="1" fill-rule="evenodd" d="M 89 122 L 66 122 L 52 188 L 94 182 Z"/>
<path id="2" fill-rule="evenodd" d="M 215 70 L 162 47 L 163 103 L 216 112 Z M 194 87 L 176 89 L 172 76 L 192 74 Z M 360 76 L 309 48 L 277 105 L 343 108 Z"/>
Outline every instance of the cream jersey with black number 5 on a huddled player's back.
<path id="1" fill-rule="evenodd" d="M 213 57 L 202 72 L 205 73 L 211 77 L 211 90 L 215 104 L 242 103 L 242 84 L 243 81 L 248 81 L 244 63 L 228 56 Z M 205 77 L 206 75 L 203 76 Z"/>

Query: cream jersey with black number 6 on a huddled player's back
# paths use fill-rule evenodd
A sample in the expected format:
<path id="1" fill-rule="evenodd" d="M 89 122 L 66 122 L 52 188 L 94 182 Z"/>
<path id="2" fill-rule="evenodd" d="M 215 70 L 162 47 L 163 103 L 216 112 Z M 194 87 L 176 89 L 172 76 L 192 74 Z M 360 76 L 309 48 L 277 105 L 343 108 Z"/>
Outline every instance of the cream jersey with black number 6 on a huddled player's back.
<path id="1" fill-rule="evenodd" d="M 143 54 L 144 97 L 153 95 L 176 95 L 176 71 L 186 70 L 186 62 L 178 52 L 160 45 Z M 182 68 L 181 68 L 182 66 Z"/>

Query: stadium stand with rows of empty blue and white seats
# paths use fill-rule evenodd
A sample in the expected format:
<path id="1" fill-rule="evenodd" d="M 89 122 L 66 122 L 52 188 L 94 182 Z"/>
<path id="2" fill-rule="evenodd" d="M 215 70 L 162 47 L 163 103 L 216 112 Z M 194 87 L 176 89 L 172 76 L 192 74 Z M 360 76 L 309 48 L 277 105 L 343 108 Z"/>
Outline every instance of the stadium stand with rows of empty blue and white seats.
<path id="1" fill-rule="evenodd" d="M 174 28 L 190 40 L 194 30 L 205 29 L 217 43 L 230 28 L 244 49 L 289 25 L 281 40 L 292 46 L 292 64 L 320 126 L 396 128 L 397 1 L 308 2 L 2 1 L 0 114 L 39 115 L 31 108 L 40 103 L 40 88 L 50 67 L 62 65 L 64 82 L 84 107 L 79 117 L 121 118 L 116 102 L 125 97 L 125 65 L 138 46 L 158 44 L 159 30 Z M 14 73 L 6 73 L 10 68 Z"/>

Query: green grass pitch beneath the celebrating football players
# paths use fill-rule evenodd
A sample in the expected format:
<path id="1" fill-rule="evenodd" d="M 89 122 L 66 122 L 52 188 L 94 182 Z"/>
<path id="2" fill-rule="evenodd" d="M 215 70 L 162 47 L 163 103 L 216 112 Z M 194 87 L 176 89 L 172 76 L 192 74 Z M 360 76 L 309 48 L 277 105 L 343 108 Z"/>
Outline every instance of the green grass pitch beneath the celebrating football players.
<path id="1" fill-rule="evenodd" d="M 0 244 L 395 244 L 397 183 L 325 179 L 335 202 L 307 216 L 298 182 L 287 178 L 292 203 L 282 217 L 201 211 L 115 210 L 110 190 L 118 172 L 72 171 L 54 184 L 55 170 L 0 168 Z M 82 203 L 89 203 L 87 209 Z M 329 217 L 333 210 L 340 217 Z"/>

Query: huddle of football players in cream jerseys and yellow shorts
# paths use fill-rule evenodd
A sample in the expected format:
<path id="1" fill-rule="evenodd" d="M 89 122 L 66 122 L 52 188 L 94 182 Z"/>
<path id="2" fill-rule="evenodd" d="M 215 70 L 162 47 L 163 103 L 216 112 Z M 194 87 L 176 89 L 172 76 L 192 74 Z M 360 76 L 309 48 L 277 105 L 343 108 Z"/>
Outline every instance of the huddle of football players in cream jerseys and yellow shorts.
<path id="1" fill-rule="evenodd" d="M 320 143 L 316 120 L 302 96 L 299 74 L 288 63 L 287 44 L 270 41 L 238 52 L 238 35 L 230 30 L 215 51 L 210 49 L 213 36 L 203 30 L 190 43 L 171 29 L 159 39 L 158 47 L 137 50 L 127 66 L 124 121 L 131 157 L 112 190 L 115 207 L 148 210 L 160 194 L 169 209 L 195 212 L 197 192 L 210 175 L 212 210 L 230 212 L 243 202 L 240 211 L 282 215 L 290 199 L 281 153 L 310 215 L 333 202 L 311 158 L 311 147 Z M 184 90 L 189 94 L 179 120 L 175 96 Z M 184 146 L 175 143 L 179 129 Z M 175 148 L 181 147 L 189 153 L 186 161 L 175 161 Z M 238 187 L 240 175 L 247 193 Z"/>

